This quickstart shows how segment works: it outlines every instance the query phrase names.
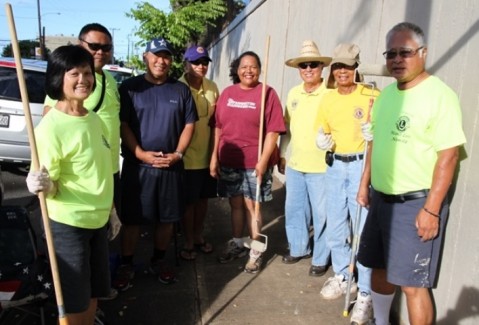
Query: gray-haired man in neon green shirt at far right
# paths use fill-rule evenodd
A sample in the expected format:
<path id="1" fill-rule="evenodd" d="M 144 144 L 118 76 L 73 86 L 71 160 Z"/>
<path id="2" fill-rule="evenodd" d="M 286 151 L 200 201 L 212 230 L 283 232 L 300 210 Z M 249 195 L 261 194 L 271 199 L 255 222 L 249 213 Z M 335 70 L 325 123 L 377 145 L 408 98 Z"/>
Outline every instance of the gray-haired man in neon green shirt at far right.
<path id="1" fill-rule="evenodd" d="M 373 141 L 357 197 L 362 206 L 370 204 L 358 261 L 373 268 L 376 325 L 389 324 L 397 287 L 405 294 L 409 322 L 433 324 L 430 289 L 449 210 L 447 192 L 466 141 L 461 109 L 454 91 L 425 70 L 420 27 L 394 26 L 386 49 L 396 82 L 383 90 L 372 113 Z"/>

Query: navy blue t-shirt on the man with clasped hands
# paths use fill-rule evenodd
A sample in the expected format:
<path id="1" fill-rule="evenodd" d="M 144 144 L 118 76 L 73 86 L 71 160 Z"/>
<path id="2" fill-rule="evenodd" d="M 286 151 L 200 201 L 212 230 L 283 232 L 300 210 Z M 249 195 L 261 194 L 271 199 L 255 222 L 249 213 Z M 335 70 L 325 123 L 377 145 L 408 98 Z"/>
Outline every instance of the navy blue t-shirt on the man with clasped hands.
<path id="1" fill-rule="evenodd" d="M 145 151 L 174 152 L 185 125 L 198 120 L 190 89 L 173 78 L 160 85 L 145 75 L 123 81 L 120 105 L 120 121 L 128 124 Z M 124 144 L 122 156 L 139 162 Z"/>

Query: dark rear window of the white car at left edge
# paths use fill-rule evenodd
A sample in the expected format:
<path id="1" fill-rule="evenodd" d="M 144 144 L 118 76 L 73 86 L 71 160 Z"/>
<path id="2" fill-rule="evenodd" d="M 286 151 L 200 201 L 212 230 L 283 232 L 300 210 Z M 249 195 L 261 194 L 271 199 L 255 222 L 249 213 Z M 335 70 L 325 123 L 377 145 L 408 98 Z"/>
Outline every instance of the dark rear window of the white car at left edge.
<path id="1" fill-rule="evenodd" d="M 45 100 L 45 73 L 24 70 L 28 99 L 32 103 L 43 103 Z M 21 101 L 17 71 L 0 67 L 0 99 Z"/>

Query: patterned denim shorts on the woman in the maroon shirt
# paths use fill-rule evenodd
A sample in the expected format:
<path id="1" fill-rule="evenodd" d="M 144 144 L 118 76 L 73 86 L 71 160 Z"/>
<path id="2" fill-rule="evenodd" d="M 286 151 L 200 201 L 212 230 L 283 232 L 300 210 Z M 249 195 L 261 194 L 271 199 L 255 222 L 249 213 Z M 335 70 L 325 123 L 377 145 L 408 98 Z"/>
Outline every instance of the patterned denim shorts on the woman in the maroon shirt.
<path id="1" fill-rule="evenodd" d="M 254 169 L 221 167 L 218 180 L 218 195 L 220 197 L 234 197 L 242 195 L 245 198 L 256 200 L 256 176 Z M 271 188 L 273 185 L 273 168 L 270 167 L 263 175 L 259 202 L 273 199 Z"/>

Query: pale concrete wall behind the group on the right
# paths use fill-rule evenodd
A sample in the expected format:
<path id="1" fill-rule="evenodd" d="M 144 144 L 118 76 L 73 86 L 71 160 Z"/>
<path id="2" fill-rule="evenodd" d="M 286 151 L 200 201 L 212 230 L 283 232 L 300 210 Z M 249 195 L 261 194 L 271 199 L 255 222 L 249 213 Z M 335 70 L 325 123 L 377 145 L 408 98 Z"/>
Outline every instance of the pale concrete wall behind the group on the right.
<path id="1" fill-rule="evenodd" d="M 210 77 L 220 89 L 230 85 L 229 64 L 246 50 L 258 53 L 264 64 L 270 35 L 267 83 L 285 101 L 300 78 L 284 61 L 298 56 L 303 40 L 314 40 L 324 55 L 332 55 L 338 43 L 353 42 L 361 47 L 362 62 L 384 64 L 385 35 L 401 21 L 423 28 L 429 47 L 428 70 L 459 95 L 468 141 L 454 184 L 440 275 L 433 290 L 437 324 L 478 324 L 478 0 L 253 0 L 213 45 Z M 377 81 L 380 88 L 392 81 L 383 77 L 366 80 Z M 403 297 L 395 308 L 407 324 Z"/>

